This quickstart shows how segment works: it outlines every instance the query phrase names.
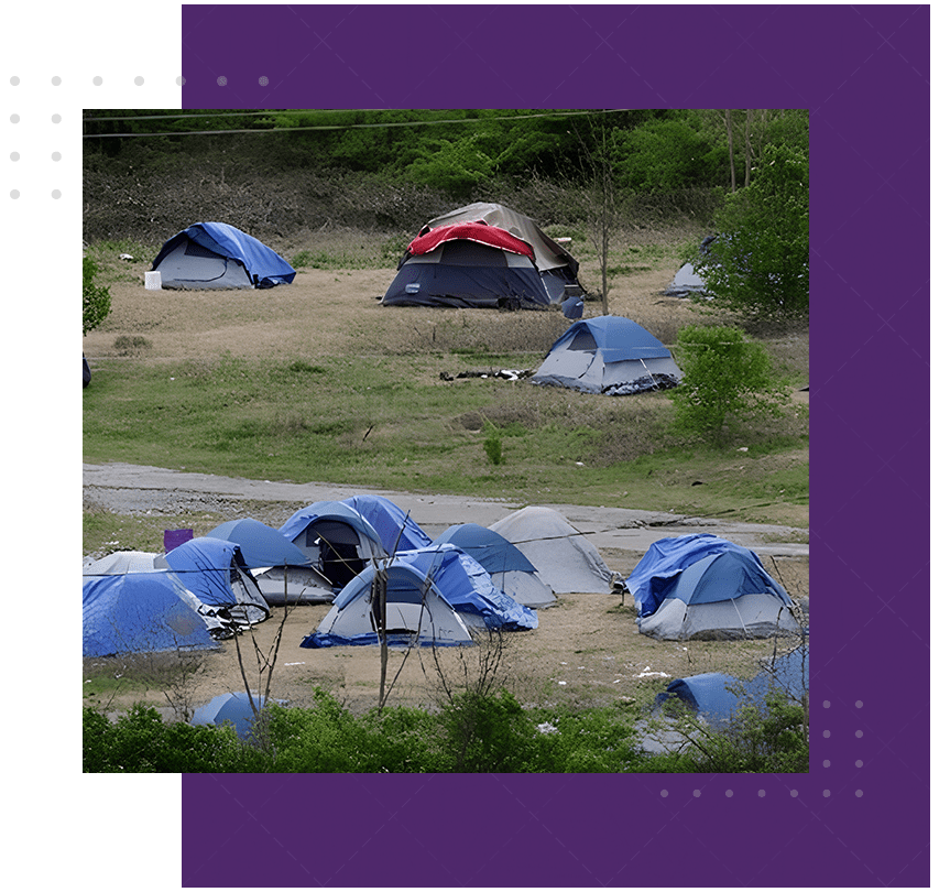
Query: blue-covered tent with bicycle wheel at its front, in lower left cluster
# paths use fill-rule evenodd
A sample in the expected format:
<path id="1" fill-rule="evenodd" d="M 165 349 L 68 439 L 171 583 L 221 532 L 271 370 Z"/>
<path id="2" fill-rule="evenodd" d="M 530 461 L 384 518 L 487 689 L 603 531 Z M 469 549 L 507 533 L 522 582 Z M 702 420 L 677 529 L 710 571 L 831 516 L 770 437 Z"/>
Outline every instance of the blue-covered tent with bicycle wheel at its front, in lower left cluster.
<path id="1" fill-rule="evenodd" d="M 234 542 L 198 536 L 167 552 L 163 561 L 203 603 L 233 622 L 263 622 L 271 610 Z"/>

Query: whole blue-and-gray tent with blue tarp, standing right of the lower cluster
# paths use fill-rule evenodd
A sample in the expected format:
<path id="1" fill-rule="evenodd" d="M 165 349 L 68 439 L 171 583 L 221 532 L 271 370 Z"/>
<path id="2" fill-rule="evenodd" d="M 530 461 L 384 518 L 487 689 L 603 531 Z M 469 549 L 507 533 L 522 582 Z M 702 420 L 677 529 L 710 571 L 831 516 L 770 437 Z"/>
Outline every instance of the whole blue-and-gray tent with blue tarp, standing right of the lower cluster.
<path id="1" fill-rule="evenodd" d="M 796 634 L 786 590 L 747 548 L 710 533 L 654 542 L 626 579 L 640 632 L 667 640 Z"/>

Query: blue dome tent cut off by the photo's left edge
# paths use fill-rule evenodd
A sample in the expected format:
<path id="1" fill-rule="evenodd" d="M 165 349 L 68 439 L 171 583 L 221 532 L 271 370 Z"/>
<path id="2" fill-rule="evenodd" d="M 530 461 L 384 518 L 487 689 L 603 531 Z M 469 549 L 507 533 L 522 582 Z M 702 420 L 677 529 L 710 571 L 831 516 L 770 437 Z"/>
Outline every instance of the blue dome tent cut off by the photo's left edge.
<path id="1" fill-rule="evenodd" d="M 192 596 L 166 570 L 88 576 L 81 585 L 81 653 L 217 648 Z"/>

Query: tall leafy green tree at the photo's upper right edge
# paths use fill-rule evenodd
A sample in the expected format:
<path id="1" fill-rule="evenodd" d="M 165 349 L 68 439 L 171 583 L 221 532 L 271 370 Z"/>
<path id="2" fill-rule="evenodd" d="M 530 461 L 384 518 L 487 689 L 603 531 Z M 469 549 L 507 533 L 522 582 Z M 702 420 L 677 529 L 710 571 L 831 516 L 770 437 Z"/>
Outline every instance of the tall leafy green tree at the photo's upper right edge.
<path id="1" fill-rule="evenodd" d="M 750 186 L 714 215 L 718 231 L 695 260 L 714 300 L 762 318 L 809 309 L 809 164 L 800 149 L 768 145 Z"/>

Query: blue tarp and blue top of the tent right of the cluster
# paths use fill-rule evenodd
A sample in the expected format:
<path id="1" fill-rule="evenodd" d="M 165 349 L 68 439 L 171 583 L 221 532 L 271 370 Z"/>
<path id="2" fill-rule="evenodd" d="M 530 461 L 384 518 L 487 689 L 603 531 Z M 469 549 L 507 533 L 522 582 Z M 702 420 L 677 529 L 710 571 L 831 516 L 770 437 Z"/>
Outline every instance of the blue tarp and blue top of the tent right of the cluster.
<path id="1" fill-rule="evenodd" d="M 720 555 L 730 557 L 717 561 Z M 626 587 L 640 617 L 655 613 L 666 598 L 700 605 L 766 591 L 791 605 L 753 552 L 711 533 L 654 542 L 626 579 Z"/>

